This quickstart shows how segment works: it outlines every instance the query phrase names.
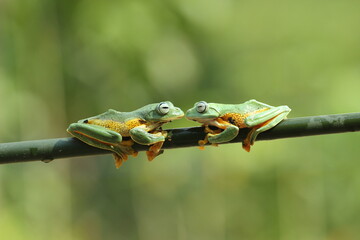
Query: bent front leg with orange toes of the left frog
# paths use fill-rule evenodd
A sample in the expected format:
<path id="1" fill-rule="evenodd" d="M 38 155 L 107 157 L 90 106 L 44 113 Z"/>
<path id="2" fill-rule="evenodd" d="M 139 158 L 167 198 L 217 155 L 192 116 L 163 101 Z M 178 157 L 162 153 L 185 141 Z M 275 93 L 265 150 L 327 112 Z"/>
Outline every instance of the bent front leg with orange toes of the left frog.
<path id="1" fill-rule="evenodd" d="M 146 151 L 146 155 L 149 161 L 152 161 L 155 157 L 159 156 L 163 153 L 161 150 L 165 138 L 167 136 L 166 131 L 149 133 L 147 132 L 146 127 L 140 126 L 130 130 L 131 138 L 142 145 L 152 145 L 148 151 Z"/>

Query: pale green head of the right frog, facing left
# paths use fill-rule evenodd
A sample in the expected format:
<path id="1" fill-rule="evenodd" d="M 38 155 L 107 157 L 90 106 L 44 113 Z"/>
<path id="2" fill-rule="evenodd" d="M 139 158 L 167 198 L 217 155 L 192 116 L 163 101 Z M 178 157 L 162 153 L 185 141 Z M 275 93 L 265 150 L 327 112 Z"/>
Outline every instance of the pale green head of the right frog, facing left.
<path id="1" fill-rule="evenodd" d="M 220 116 L 220 109 L 216 103 L 200 101 L 186 112 L 186 118 L 200 123 L 206 123 Z"/>

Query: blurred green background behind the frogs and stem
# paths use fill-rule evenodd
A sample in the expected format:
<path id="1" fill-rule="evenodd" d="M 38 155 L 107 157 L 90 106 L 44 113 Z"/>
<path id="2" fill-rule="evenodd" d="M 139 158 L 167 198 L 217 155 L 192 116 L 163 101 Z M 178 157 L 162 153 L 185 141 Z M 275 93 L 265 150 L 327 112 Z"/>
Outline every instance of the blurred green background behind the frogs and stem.
<path id="1" fill-rule="evenodd" d="M 0 1 L 0 142 L 170 100 L 359 111 L 360 2 Z M 196 125 L 185 119 L 165 128 Z M 0 166 L 0 239 L 360 235 L 360 135 Z"/>

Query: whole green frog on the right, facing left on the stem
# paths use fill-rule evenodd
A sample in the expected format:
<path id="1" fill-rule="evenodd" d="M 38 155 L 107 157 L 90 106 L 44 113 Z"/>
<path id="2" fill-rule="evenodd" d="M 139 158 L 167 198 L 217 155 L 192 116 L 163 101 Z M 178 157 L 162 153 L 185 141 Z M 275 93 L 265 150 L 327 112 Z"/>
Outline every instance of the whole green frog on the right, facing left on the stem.
<path id="1" fill-rule="evenodd" d="M 276 126 L 289 114 L 288 106 L 273 107 L 254 99 L 241 104 L 206 103 L 200 101 L 186 112 L 186 118 L 202 123 L 207 133 L 199 141 L 200 148 L 212 144 L 228 142 L 234 139 L 241 128 L 251 128 L 243 148 L 250 151 L 259 133 Z M 212 130 L 209 126 L 216 127 Z"/>

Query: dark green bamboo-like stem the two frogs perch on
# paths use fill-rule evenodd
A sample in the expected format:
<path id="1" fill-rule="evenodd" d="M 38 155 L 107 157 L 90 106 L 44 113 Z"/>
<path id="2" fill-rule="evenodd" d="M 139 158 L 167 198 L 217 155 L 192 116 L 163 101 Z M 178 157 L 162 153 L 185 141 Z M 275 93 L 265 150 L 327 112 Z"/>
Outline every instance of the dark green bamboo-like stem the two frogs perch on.
<path id="1" fill-rule="evenodd" d="M 168 138 L 163 149 L 198 146 L 204 139 L 203 127 L 167 129 Z M 256 141 L 290 137 L 304 137 L 331 133 L 360 131 L 360 113 L 311 116 L 286 119 L 276 127 L 260 133 Z M 241 129 L 239 135 L 229 143 L 242 142 L 249 129 Z M 135 144 L 134 149 L 144 151 L 148 146 Z M 112 152 L 91 147 L 76 138 L 53 138 L 0 144 L 0 164 L 44 161 Z"/>

